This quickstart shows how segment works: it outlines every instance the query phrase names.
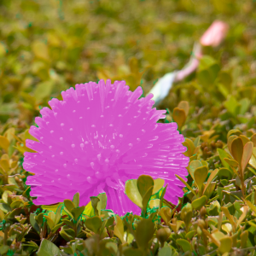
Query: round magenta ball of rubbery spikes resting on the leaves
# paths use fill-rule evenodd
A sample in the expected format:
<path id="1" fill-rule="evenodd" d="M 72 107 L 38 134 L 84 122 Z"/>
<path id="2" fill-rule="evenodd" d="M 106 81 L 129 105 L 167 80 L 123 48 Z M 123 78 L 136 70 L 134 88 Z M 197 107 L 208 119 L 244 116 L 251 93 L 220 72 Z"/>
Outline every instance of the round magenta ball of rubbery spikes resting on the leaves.
<path id="1" fill-rule="evenodd" d="M 189 158 L 177 124 L 156 124 L 166 110 L 152 108 L 153 95 L 138 100 L 143 90 L 131 92 L 125 81 L 111 84 L 76 84 L 61 92 L 63 101 L 52 99 L 41 109 L 30 134 L 38 142 L 26 146 L 38 153 L 25 153 L 23 167 L 35 173 L 27 177 L 36 205 L 73 200 L 80 194 L 80 206 L 90 196 L 105 192 L 107 209 L 124 215 L 140 209 L 124 193 L 125 182 L 142 174 L 163 178 L 169 183 L 166 200 L 177 204 Z"/>

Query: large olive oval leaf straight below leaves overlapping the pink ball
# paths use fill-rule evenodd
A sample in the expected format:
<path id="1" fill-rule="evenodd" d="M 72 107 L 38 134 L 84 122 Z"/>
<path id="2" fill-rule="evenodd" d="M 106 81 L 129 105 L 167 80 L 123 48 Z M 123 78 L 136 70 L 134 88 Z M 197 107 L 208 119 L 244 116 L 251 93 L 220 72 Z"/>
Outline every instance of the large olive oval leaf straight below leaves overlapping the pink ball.
<path id="1" fill-rule="evenodd" d="M 148 248 L 148 242 L 154 236 L 154 223 L 150 218 L 143 218 L 138 224 L 135 232 L 135 238 L 138 247 L 145 250 Z"/>

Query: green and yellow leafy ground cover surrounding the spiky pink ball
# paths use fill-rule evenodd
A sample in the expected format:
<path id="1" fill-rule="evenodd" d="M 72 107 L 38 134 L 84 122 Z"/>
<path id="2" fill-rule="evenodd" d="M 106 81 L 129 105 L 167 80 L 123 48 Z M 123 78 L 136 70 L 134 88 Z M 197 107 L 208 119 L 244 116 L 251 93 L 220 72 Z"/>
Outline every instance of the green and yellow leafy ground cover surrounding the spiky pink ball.
<path id="1" fill-rule="evenodd" d="M 1 255 L 255 255 L 256 30 L 253 1 L 0 1 Z M 129 180 L 138 214 L 115 215 L 105 194 L 35 205 L 23 167 L 39 110 L 61 90 L 125 80 L 144 94 L 183 67 L 213 20 L 230 31 L 159 109 L 189 157 L 183 196 L 161 179 Z"/>

